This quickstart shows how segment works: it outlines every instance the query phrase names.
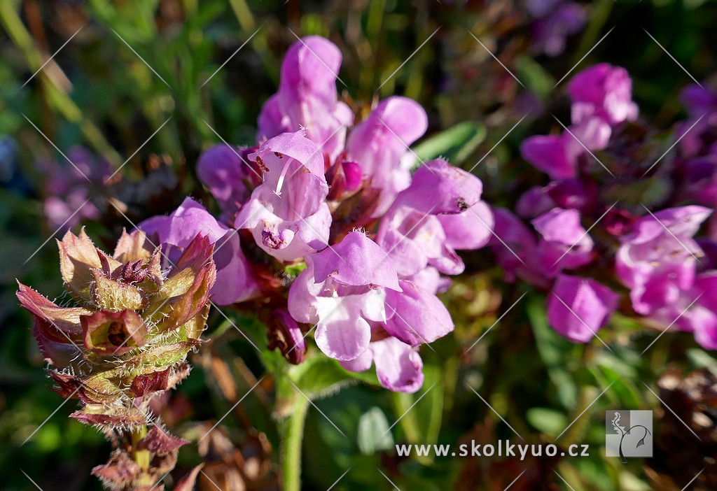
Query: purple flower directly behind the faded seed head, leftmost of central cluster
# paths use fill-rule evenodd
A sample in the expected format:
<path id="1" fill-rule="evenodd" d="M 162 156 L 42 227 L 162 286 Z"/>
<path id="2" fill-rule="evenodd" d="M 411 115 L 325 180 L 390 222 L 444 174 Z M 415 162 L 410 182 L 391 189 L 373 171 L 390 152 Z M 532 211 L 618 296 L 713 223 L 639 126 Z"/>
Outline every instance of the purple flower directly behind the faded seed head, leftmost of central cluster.
<path id="1" fill-rule="evenodd" d="M 210 292 L 215 303 L 229 305 L 246 301 L 259 293 L 236 230 L 217 222 L 193 199 L 185 198 L 169 216 L 149 218 L 138 228 L 147 235 L 155 235 L 166 256 L 174 263 L 197 235 L 206 236 L 209 243 L 214 244 L 214 263 L 217 266 L 217 282 Z"/>

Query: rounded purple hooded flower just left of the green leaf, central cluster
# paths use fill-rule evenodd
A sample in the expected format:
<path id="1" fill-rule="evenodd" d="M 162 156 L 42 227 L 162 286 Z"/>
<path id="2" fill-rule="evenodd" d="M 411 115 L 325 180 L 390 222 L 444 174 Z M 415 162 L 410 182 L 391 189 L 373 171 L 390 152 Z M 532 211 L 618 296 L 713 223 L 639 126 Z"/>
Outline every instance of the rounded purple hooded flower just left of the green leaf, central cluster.
<path id="1" fill-rule="evenodd" d="M 420 104 L 394 96 L 379 102 L 349 133 L 346 157 L 361 166 L 370 188 L 381 190 L 374 217 L 385 213 L 396 195 L 411 183 L 414 157 L 409 145 L 427 127 L 428 117 Z"/>

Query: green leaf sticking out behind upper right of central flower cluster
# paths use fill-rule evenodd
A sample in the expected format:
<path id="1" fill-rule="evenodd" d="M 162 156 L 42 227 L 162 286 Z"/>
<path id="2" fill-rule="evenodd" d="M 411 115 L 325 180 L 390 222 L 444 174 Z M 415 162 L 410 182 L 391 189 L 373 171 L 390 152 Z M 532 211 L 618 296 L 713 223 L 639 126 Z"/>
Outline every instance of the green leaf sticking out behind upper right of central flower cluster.
<path id="1" fill-rule="evenodd" d="M 477 122 L 464 121 L 430 137 L 413 150 L 424 162 L 445 157 L 452 164 L 460 165 L 460 162 L 465 161 L 484 139 L 485 126 Z"/>

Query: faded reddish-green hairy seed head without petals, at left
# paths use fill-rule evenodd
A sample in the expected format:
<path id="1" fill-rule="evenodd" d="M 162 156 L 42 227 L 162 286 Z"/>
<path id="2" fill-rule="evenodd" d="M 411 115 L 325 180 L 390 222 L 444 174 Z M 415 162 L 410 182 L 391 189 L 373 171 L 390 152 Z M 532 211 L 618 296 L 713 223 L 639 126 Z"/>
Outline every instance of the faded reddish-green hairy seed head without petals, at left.
<path id="1" fill-rule="evenodd" d="M 189 374 L 186 355 L 200 344 L 216 278 L 212 246 L 196 236 L 170 268 L 140 231 L 123 233 L 112 256 L 84 229 L 67 232 L 58 246 L 76 306 L 60 306 L 22 283 L 17 293 L 34 316 L 52 389 L 79 399 L 72 417 L 102 429 L 114 444 L 110 461 L 93 474 L 112 489 L 153 485 L 187 443 L 168 434 L 150 404 Z"/>

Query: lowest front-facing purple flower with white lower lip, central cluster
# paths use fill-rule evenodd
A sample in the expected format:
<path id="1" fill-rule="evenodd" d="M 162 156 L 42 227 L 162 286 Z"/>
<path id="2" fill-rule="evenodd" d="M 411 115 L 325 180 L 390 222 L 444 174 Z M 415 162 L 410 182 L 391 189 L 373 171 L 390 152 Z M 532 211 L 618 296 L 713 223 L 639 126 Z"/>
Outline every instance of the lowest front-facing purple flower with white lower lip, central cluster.
<path id="1" fill-rule="evenodd" d="M 289 313 L 316 324 L 316 344 L 326 355 L 356 359 L 371 341 L 369 323 L 386 321 L 386 291 L 401 291 L 391 258 L 355 231 L 305 261 L 289 290 Z"/>

